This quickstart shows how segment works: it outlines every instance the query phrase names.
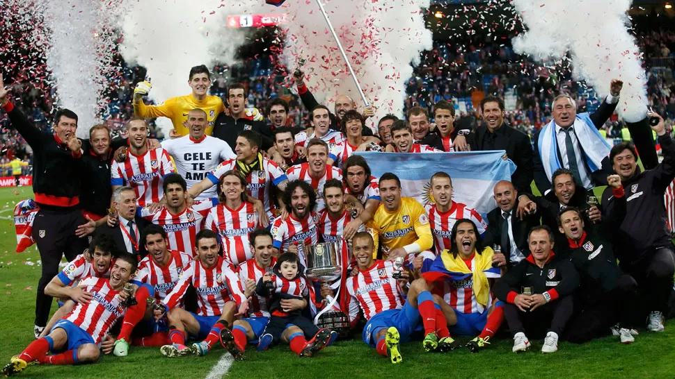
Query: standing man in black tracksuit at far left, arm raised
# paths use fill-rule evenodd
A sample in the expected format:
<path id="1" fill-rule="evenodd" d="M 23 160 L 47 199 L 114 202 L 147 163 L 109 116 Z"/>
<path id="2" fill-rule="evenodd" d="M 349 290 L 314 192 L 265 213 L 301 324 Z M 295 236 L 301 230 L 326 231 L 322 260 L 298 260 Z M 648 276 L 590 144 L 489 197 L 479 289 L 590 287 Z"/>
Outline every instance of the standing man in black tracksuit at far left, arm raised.
<path id="1" fill-rule="evenodd" d="M 67 109 L 56 112 L 54 133 L 42 131 L 7 99 L 0 76 L 0 104 L 12 125 L 33 148 L 33 192 L 40 210 L 33 222 L 33 239 L 40 251 L 42 276 L 35 299 L 35 338 L 47 325 L 51 296 L 45 295 L 47 283 L 58 273 L 65 254 L 74 260 L 87 248 L 87 239 L 75 235 L 86 221 L 79 205 L 82 171 L 81 141 L 75 137 L 77 115 Z"/>

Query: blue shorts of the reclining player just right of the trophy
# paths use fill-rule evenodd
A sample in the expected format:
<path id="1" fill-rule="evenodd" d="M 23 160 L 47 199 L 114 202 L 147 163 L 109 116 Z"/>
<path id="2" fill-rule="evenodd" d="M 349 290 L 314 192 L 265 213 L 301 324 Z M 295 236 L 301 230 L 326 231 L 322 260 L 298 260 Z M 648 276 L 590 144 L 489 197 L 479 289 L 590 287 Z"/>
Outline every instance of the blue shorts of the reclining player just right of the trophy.
<path id="1" fill-rule="evenodd" d="M 375 340 L 375 336 L 377 332 L 382 329 L 388 329 L 391 326 L 399 330 L 401 342 L 406 342 L 410 339 L 413 332 L 418 330 L 422 325 L 421 321 L 420 312 L 406 301 L 403 308 L 380 312 L 368 320 L 365 328 L 363 328 L 363 342 L 370 347 L 376 347 L 377 341 Z"/>

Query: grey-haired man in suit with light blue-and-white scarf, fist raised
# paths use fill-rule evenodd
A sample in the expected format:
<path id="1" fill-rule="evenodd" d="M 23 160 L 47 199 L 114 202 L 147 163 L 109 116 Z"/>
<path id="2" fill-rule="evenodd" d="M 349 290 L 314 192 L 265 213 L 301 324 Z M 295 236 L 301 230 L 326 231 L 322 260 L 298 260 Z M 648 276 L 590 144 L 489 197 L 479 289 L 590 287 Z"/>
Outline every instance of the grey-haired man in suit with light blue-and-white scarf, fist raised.
<path id="1" fill-rule="evenodd" d="M 607 119 L 612 116 L 614 110 L 617 109 L 619 94 L 623 85 L 624 83 L 617 79 L 612 80 L 610 95 L 603 101 L 600 108 L 589 116 L 595 128 L 601 128 L 607 122 Z M 578 139 L 577 131 L 572 128 L 577 117 L 575 101 L 569 95 L 561 94 L 553 99 L 552 108 L 553 124 L 550 127 L 555 128 L 557 157 L 560 165 L 570 169 L 575 182 L 586 189 L 598 185 L 607 185 L 607 176 L 612 174 L 612 165 L 609 158 L 605 157 L 602 160 L 600 169 L 591 171 L 588 159 Z M 541 130 L 545 130 L 545 128 L 541 128 Z M 573 146 L 573 149 L 569 149 L 568 146 Z M 546 169 L 543 167 L 542 155 L 546 156 L 548 152 L 539 152 L 539 134 L 537 134 L 534 136 L 534 184 L 537 185 L 539 192 L 546 194 L 550 191 L 551 182 L 546 174 Z"/>

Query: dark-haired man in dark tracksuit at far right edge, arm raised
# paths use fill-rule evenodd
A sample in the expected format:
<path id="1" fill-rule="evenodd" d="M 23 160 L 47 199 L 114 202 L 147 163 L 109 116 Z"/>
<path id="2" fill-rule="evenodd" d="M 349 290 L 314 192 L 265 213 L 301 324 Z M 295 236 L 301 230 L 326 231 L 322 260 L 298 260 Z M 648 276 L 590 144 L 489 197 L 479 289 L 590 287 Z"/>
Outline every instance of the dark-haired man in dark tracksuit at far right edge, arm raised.
<path id="1" fill-rule="evenodd" d="M 612 242 L 621 269 L 640 286 L 642 310 L 649 313 L 647 329 L 662 332 L 675 273 L 675 249 L 663 201 L 665 189 L 675 178 L 675 142 L 666 133 L 663 119 L 656 113 L 650 116 L 660 119 L 652 129 L 658 135 L 663 162 L 640 172 L 633 145 L 623 142 L 610 151 L 612 167 L 621 176 L 626 191 L 626 217 Z M 603 192 L 602 208 L 603 217 L 616 217 L 617 199 L 609 187 Z"/>

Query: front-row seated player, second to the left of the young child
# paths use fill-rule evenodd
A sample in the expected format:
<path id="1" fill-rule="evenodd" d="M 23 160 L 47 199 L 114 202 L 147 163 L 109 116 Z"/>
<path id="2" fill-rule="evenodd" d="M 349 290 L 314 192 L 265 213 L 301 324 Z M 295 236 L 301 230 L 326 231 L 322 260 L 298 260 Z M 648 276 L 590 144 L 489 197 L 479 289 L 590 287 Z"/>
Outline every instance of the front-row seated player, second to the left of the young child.
<path id="1" fill-rule="evenodd" d="M 168 312 L 169 339 L 172 342 L 160 348 L 165 357 L 190 353 L 206 355 L 219 342 L 221 330 L 232 325 L 237 308 L 239 314 L 244 314 L 248 308 L 248 300 L 241 290 L 235 268 L 218 255 L 221 246 L 216 233 L 201 230 L 195 239 L 197 258 L 183 270 L 178 283 L 161 304 L 161 308 Z M 189 285 L 197 292 L 197 313 L 177 307 Z M 203 341 L 187 347 L 188 334 Z"/>

